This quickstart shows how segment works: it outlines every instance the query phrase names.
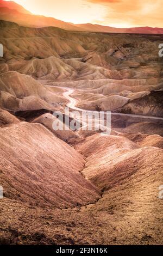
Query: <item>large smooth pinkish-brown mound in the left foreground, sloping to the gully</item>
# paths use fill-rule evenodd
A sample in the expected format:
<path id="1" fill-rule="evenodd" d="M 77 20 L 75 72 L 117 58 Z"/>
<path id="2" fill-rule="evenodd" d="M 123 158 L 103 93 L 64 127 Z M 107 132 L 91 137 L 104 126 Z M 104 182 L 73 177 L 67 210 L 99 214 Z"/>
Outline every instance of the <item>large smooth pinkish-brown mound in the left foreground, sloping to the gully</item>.
<path id="1" fill-rule="evenodd" d="M 41 124 L 1 129 L 0 162 L 7 198 L 60 208 L 99 198 L 98 190 L 79 174 L 83 157 Z"/>

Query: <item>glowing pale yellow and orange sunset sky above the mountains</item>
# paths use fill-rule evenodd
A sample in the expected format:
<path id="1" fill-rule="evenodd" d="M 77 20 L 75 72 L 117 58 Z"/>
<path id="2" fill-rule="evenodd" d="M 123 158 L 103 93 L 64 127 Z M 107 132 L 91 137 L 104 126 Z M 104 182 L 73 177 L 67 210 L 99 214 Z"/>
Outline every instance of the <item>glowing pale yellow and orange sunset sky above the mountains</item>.
<path id="1" fill-rule="evenodd" d="M 163 27 L 163 0 L 15 0 L 33 14 L 111 27 Z"/>

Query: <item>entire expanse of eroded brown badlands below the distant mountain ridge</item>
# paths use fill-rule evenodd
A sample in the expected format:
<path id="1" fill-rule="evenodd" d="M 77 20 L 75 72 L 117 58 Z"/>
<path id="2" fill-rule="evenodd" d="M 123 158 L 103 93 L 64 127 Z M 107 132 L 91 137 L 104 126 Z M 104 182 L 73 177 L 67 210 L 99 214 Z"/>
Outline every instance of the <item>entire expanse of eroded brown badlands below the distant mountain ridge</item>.
<path id="1" fill-rule="evenodd" d="M 163 36 L 0 31 L 0 244 L 162 245 Z M 65 106 L 111 134 L 54 131 Z"/>

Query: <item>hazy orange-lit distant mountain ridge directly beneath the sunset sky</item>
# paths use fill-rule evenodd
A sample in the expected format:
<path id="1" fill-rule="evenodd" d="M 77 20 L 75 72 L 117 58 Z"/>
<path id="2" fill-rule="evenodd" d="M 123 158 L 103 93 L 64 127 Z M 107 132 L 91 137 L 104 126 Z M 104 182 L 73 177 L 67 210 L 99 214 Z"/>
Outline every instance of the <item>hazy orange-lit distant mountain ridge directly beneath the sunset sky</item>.
<path id="1" fill-rule="evenodd" d="M 0 20 L 16 22 L 26 27 L 59 27 L 71 31 L 101 32 L 101 33 L 138 33 L 138 34 L 163 34 L 163 28 L 138 27 L 138 28 L 114 28 L 102 25 L 73 24 L 54 19 L 34 15 L 21 5 L 13 1 L 0 0 Z"/>

